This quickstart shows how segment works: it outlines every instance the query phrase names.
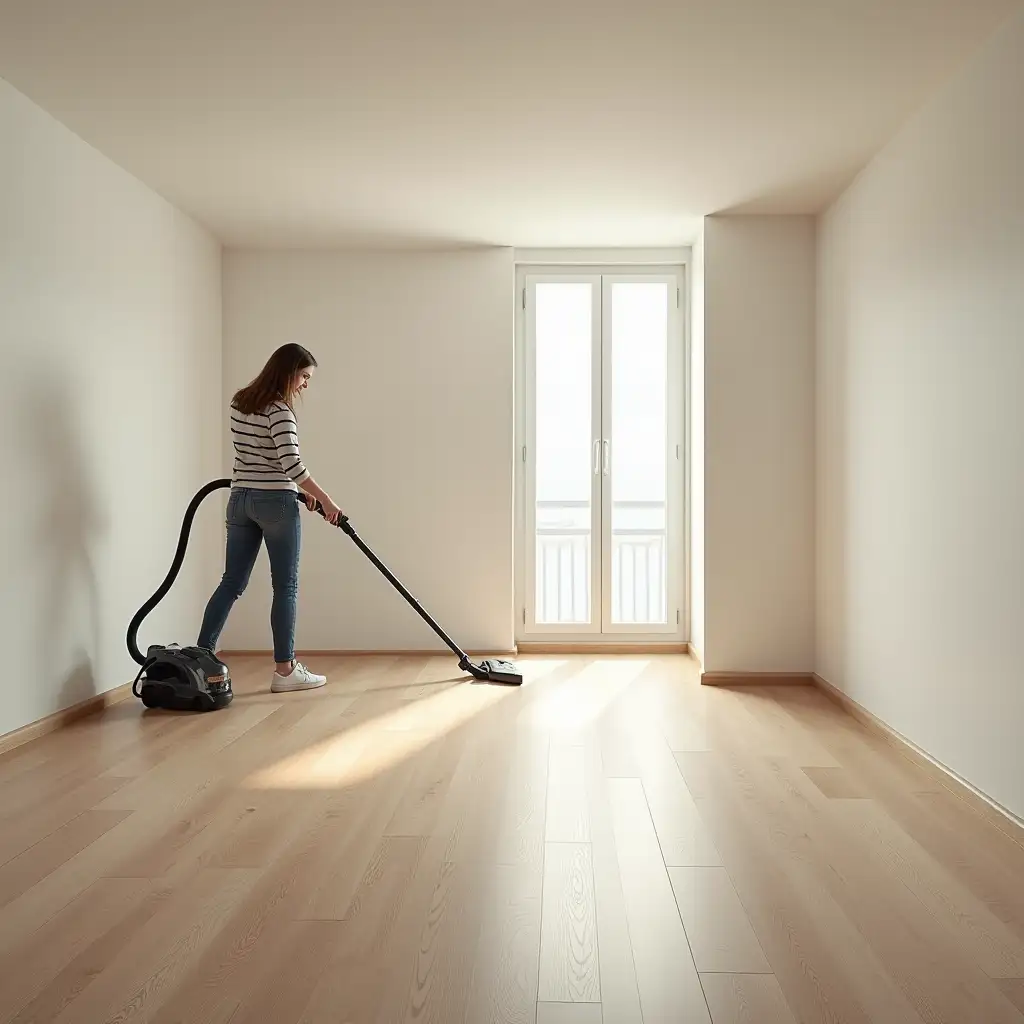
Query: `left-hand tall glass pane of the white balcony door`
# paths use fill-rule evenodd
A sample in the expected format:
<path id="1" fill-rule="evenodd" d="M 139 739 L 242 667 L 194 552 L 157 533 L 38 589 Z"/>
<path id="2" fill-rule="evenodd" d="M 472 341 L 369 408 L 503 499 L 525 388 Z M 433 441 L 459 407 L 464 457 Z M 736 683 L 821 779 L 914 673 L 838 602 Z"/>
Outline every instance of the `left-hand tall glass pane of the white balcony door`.
<path id="1" fill-rule="evenodd" d="M 591 621 L 592 286 L 537 286 L 537 591 L 544 624 Z"/>

